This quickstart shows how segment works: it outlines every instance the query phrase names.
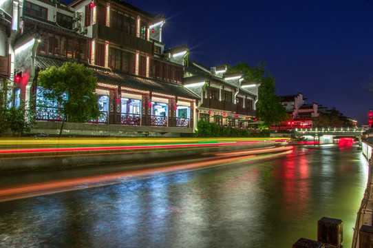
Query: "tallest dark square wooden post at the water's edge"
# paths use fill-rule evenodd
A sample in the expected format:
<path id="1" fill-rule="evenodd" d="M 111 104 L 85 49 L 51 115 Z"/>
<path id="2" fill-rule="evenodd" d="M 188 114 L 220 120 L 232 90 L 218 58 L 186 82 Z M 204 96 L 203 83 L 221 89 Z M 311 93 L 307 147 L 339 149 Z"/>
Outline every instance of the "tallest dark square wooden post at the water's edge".
<path id="1" fill-rule="evenodd" d="M 343 241 L 343 222 L 335 218 L 323 217 L 317 222 L 317 241 L 325 247 L 340 248 Z"/>

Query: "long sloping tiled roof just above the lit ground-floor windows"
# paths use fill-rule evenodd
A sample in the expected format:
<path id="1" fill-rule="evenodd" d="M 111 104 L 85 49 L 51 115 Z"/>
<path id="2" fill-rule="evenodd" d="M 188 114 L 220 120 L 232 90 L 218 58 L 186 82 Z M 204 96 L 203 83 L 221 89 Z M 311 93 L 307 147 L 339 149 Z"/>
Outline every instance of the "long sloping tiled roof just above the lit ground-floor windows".
<path id="1" fill-rule="evenodd" d="M 35 66 L 40 70 L 45 70 L 51 66 L 61 67 L 66 61 L 78 62 L 67 59 L 50 58 L 48 56 L 36 56 Z M 173 96 L 181 96 L 189 99 L 200 99 L 200 97 L 193 92 L 184 88 L 183 85 L 176 83 L 169 83 L 156 79 L 148 79 L 143 76 L 136 76 L 120 72 L 112 72 L 109 68 L 101 68 L 95 65 L 85 63 L 85 68 L 91 70 L 98 79 L 98 83 L 108 83 L 112 85 L 120 85 L 130 87 L 136 90 L 149 90 L 151 92 L 158 92 L 162 94 L 170 94 Z"/>

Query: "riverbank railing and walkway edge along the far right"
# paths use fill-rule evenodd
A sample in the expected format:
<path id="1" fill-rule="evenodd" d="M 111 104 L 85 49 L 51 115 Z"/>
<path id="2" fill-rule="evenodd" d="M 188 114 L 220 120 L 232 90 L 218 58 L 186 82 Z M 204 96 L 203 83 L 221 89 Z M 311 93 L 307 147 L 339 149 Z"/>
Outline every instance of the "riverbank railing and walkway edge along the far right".
<path id="1" fill-rule="evenodd" d="M 365 158 L 369 163 L 369 172 L 367 178 L 367 187 L 361 200 L 360 209 L 356 216 L 354 228 L 354 236 L 352 238 L 352 248 L 367 248 L 373 247 L 373 180 L 372 180 L 372 151 L 373 144 L 363 141 L 361 149 Z"/>

